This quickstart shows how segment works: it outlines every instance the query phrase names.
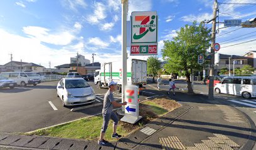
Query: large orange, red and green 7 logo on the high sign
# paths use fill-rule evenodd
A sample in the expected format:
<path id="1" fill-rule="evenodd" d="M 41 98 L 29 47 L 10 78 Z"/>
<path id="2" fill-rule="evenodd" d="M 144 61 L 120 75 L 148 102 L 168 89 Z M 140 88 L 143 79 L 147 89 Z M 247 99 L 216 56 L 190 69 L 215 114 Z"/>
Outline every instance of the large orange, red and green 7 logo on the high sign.
<path id="1" fill-rule="evenodd" d="M 134 39 L 141 39 L 144 37 L 147 32 L 153 32 L 156 30 L 156 28 L 152 29 L 152 27 L 156 27 L 156 24 L 154 24 L 154 19 L 156 16 L 135 16 L 135 21 L 141 21 L 141 25 L 134 25 L 133 27 L 140 27 L 139 34 L 134 33 L 133 38 Z M 152 19 L 150 21 L 150 19 Z M 150 21 L 150 22 L 149 22 Z M 149 22 L 149 24 L 147 24 Z"/>

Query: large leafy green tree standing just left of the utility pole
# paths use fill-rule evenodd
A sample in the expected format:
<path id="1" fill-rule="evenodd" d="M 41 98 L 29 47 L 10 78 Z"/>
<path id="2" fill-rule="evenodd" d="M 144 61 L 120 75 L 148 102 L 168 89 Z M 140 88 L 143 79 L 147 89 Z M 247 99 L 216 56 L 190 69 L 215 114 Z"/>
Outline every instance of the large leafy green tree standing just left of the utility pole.
<path id="1" fill-rule="evenodd" d="M 203 23 L 196 21 L 191 25 L 181 27 L 172 41 L 164 41 L 162 49 L 163 59 L 167 61 L 164 68 L 170 73 L 183 73 L 188 84 L 188 93 L 194 93 L 190 75 L 193 71 L 200 71 L 203 66 L 198 64 L 198 56 L 206 56 L 206 49 L 210 47 L 210 32 Z"/>

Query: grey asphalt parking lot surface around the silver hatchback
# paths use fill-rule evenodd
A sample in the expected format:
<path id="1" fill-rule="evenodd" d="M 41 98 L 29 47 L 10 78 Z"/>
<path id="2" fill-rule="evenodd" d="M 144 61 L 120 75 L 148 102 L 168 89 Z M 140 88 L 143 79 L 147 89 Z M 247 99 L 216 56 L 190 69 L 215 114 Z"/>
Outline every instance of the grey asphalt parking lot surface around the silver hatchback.
<path id="1" fill-rule="evenodd" d="M 97 89 L 93 82 L 89 82 L 97 95 L 97 101 L 93 104 L 99 105 L 87 104 L 86 109 L 72 112 L 72 108 L 85 105 L 63 108 L 56 95 L 57 83 L 58 81 L 54 81 L 25 88 L 0 89 L 0 132 L 28 132 L 102 112 L 102 104 L 99 103 L 102 103 L 107 89 Z M 121 95 L 115 93 L 114 97 L 120 101 Z M 140 98 L 143 100 L 146 97 Z"/>

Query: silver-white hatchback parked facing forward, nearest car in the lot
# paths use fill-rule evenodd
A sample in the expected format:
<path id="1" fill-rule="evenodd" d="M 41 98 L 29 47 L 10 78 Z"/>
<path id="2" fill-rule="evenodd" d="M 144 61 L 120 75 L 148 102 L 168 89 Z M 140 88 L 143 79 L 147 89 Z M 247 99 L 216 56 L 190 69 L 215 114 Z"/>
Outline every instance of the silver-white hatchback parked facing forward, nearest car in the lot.
<path id="1" fill-rule="evenodd" d="M 57 86 L 57 95 L 63 106 L 93 103 L 96 96 L 92 87 L 83 78 L 63 78 Z"/>

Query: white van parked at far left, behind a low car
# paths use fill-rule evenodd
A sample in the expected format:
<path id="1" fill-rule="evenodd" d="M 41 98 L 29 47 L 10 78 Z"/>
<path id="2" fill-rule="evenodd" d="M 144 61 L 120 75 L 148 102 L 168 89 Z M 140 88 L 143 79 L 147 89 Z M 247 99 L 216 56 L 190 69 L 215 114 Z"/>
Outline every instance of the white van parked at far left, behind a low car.
<path id="1" fill-rule="evenodd" d="M 8 79 L 13 79 L 19 86 L 26 86 L 28 84 L 36 86 L 36 84 L 41 83 L 40 76 L 31 72 L 3 72 L 0 75 Z"/>

